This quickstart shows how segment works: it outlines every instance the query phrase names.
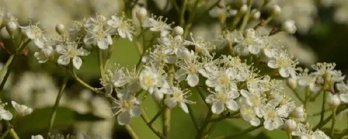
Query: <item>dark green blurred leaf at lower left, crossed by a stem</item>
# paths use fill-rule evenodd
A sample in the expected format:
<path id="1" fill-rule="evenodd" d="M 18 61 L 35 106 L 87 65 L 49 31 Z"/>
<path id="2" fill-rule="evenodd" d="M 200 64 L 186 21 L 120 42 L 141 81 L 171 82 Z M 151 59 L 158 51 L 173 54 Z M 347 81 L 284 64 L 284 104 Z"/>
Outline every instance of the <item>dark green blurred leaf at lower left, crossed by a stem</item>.
<path id="1" fill-rule="evenodd" d="M 34 110 L 17 122 L 14 130 L 17 134 L 35 133 L 48 129 L 51 118 L 52 108 L 43 108 Z M 80 121 L 99 121 L 103 118 L 94 116 L 93 114 L 79 114 L 68 108 L 58 107 L 53 128 L 64 127 Z"/>

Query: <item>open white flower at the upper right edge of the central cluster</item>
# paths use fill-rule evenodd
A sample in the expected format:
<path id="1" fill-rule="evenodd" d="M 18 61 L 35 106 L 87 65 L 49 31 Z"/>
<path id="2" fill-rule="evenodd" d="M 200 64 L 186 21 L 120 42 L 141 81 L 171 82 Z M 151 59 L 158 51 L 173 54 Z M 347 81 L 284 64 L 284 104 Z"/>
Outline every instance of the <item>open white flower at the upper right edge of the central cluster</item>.
<path id="1" fill-rule="evenodd" d="M 298 62 L 289 56 L 286 52 L 279 52 L 273 57 L 273 60 L 268 61 L 267 66 L 272 69 L 278 69 L 282 77 L 296 76 L 296 65 Z"/>

